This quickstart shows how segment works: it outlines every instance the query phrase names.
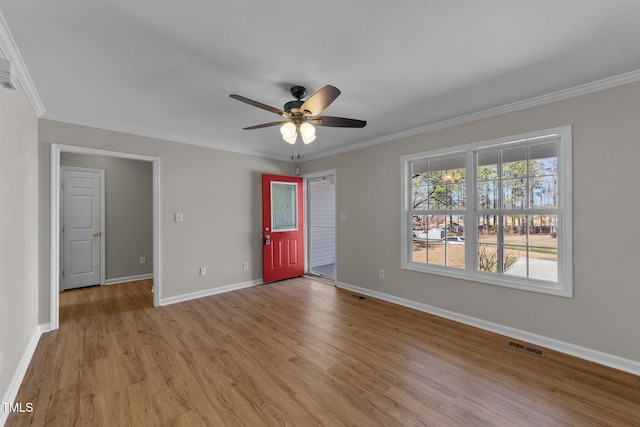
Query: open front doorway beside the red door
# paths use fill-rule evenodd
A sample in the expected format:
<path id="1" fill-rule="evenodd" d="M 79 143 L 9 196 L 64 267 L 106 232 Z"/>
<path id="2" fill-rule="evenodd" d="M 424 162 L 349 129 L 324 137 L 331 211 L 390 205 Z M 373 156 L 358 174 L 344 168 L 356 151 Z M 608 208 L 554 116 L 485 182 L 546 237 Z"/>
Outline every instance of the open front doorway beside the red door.
<path id="1" fill-rule="evenodd" d="M 335 171 L 306 176 L 308 272 L 336 280 Z"/>

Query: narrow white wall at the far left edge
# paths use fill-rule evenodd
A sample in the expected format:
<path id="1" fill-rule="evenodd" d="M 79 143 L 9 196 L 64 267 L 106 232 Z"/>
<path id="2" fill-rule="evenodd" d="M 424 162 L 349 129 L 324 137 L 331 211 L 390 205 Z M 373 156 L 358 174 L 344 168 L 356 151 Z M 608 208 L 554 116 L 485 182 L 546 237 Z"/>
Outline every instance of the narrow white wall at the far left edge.
<path id="1" fill-rule="evenodd" d="M 5 402 L 31 340 L 39 336 L 38 122 L 20 87 L 0 89 L 0 182 L 0 402 Z M 0 408 L 0 424 L 6 415 Z"/>

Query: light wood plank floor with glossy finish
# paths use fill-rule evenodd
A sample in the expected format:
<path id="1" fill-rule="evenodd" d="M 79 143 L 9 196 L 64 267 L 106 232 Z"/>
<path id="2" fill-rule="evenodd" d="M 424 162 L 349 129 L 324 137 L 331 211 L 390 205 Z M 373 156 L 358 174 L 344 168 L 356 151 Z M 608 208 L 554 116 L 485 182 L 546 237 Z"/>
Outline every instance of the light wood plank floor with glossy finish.
<path id="1" fill-rule="evenodd" d="M 8 426 L 640 425 L 640 377 L 307 278 L 67 291 Z"/>

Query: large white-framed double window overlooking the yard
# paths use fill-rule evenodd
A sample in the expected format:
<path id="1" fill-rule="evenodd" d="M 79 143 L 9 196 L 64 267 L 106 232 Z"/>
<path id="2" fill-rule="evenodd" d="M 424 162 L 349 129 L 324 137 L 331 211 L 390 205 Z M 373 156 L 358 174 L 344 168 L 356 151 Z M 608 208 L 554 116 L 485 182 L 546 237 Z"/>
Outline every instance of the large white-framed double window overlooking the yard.
<path id="1" fill-rule="evenodd" d="M 402 158 L 404 269 L 571 297 L 571 127 Z"/>

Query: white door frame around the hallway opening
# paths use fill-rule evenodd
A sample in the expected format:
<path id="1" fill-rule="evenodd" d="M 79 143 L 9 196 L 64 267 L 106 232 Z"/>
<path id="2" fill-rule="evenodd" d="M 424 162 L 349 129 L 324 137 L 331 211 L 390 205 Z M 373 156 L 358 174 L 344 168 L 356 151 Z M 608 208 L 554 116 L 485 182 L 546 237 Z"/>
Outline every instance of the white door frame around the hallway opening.
<path id="1" fill-rule="evenodd" d="M 51 312 L 50 330 L 58 329 L 60 324 L 60 153 L 93 154 L 142 160 L 153 165 L 153 305 L 160 306 L 160 158 L 141 154 L 107 151 L 73 145 L 51 144 Z"/>

